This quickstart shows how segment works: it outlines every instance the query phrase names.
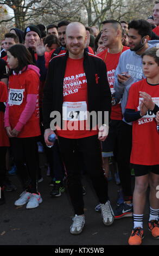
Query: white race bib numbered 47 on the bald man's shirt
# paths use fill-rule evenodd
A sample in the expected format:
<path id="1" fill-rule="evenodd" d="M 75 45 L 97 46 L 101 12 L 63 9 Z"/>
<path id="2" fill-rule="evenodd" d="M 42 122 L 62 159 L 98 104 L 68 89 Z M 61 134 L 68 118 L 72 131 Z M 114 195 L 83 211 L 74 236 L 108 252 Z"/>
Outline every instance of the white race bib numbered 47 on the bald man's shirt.
<path id="1" fill-rule="evenodd" d="M 62 119 L 67 121 L 87 120 L 86 101 L 68 102 L 64 101 L 62 106 Z"/>

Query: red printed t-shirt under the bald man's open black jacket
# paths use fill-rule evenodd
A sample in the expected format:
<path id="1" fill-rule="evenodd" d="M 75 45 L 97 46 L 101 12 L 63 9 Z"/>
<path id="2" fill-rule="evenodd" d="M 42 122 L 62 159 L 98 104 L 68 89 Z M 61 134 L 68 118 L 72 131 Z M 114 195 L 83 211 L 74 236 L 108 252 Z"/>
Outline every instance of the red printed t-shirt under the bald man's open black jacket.
<path id="1" fill-rule="evenodd" d="M 84 138 L 98 134 L 96 127 L 96 130 L 88 130 L 87 118 L 82 115 L 87 112 L 88 106 L 83 60 L 84 58 L 67 59 L 63 81 L 63 130 L 56 126 L 56 133 L 61 137 Z"/>

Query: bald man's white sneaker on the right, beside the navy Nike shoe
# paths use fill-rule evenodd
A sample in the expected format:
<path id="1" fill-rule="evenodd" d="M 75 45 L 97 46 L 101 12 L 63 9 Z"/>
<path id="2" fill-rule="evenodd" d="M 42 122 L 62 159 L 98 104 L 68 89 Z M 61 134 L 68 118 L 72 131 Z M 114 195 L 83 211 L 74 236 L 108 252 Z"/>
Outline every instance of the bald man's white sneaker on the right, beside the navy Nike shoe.
<path id="1" fill-rule="evenodd" d="M 105 225 L 111 225 L 115 220 L 115 217 L 110 202 L 107 201 L 105 204 L 101 204 L 100 211 L 103 223 Z"/>

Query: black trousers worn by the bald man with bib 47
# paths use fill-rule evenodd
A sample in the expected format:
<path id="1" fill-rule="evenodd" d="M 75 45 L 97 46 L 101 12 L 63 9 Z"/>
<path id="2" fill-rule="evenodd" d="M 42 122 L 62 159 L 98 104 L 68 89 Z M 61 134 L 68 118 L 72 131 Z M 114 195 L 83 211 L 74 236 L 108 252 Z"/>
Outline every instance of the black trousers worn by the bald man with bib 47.
<path id="1" fill-rule="evenodd" d="M 66 167 L 67 186 L 74 213 L 84 214 L 81 169 L 84 167 L 100 203 L 106 203 L 107 179 L 104 176 L 101 144 L 98 136 L 80 139 L 59 137 L 61 156 Z"/>

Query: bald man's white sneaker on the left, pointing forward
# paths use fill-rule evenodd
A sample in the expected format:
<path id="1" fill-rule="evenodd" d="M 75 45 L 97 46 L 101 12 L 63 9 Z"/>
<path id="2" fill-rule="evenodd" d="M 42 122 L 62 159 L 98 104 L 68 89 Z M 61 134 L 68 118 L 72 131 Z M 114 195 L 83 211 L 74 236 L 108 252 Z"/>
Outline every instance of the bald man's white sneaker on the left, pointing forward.
<path id="1" fill-rule="evenodd" d="M 73 220 L 73 223 L 70 227 L 70 233 L 73 235 L 78 235 L 84 229 L 85 217 L 75 214 L 72 220 Z"/>

